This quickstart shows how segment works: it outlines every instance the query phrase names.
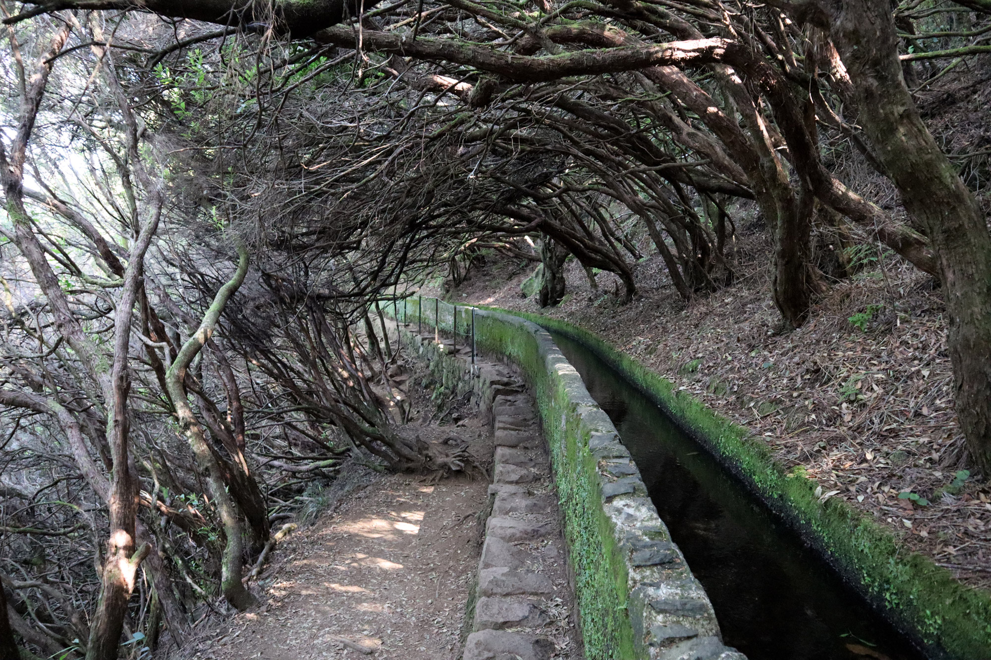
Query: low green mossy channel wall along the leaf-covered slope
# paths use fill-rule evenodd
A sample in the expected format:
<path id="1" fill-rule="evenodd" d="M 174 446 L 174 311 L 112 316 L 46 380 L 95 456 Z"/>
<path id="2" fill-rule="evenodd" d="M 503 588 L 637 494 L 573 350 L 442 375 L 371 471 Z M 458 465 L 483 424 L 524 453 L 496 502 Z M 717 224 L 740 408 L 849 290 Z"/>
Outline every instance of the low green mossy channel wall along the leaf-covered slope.
<path id="1" fill-rule="evenodd" d="M 886 528 L 833 497 L 821 503 L 816 482 L 789 474 L 760 439 L 716 414 L 670 381 L 582 328 L 517 314 L 578 341 L 659 405 L 772 510 L 795 526 L 826 561 L 931 657 L 991 658 L 991 595 L 965 587 L 932 560 L 905 547 Z M 499 350 L 519 341 L 506 336 Z"/>

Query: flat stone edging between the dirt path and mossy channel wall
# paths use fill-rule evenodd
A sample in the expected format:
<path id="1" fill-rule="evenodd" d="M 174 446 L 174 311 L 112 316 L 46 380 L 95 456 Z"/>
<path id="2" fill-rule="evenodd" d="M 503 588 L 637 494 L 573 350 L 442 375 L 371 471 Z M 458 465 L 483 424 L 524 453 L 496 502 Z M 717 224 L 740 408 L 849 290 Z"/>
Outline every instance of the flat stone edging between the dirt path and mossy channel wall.
<path id="1" fill-rule="evenodd" d="M 472 386 L 482 419 L 495 427 L 494 483 L 463 659 L 580 658 L 550 462 L 526 385 L 497 363 L 480 360 L 470 369 L 464 349 L 455 353 L 432 336 L 408 333 L 404 341 L 445 386 L 459 391 L 454 379 Z"/>

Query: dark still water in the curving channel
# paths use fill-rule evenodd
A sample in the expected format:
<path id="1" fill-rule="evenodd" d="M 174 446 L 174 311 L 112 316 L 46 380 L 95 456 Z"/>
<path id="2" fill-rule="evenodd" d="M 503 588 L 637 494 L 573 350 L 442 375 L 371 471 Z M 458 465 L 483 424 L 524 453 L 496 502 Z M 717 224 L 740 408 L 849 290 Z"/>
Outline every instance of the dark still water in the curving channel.
<path id="1" fill-rule="evenodd" d="M 581 344 L 554 339 L 640 468 L 726 644 L 750 660 L 926 657 L 646 396 Z"/>

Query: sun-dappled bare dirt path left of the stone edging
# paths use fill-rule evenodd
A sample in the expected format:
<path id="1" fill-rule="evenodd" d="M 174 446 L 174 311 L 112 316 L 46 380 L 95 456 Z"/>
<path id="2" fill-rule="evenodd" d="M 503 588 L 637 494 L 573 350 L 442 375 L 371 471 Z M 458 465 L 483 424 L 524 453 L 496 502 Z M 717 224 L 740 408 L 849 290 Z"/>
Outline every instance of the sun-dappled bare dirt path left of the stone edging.
<path id="1" fill-rule="evenodd" d="M 446 426 L 414 420 L 400 432 L 427 442 L 454 433 L 480 465 L 492 463 L 492 431 L 477 415 Z M 433 484 L 353 468 L 330 487 L 323 514 L 278 546 L 253 589 L 261 606 L 208 618 L 171 657 L 460 657 L 488 481 L 458 475 Z"/>

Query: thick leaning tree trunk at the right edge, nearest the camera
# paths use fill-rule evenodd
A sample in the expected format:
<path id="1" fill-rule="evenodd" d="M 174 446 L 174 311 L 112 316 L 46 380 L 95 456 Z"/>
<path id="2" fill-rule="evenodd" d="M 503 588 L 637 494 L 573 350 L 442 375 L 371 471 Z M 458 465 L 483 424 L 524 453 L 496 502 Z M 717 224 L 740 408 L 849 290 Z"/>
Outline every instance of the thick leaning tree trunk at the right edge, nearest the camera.
<path id="1" fill-rule="evenodd" d="M 857 122 L 936 252 L 949 313 L 956 413 L 967 449 L 991 475 L 991 236 L 977 200 L 936 145 L 902 77 L 888 3 L 824 3 L 849 71 Z M 830 15 L 830 10 L 834 14 Z"/>

